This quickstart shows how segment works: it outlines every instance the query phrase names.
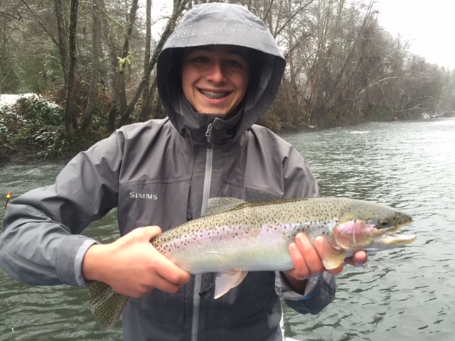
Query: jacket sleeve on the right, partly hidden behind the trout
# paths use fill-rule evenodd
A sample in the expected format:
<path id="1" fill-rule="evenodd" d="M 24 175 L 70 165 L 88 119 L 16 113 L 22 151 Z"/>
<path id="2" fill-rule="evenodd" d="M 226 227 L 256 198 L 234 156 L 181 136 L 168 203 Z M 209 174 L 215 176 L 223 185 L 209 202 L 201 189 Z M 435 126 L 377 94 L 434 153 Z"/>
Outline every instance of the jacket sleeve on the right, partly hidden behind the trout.
<path id="1" fill-rule="evenodd" d="M 318 183 L 306 161 L 292 146 L 283 161 L 284 198 L 317 197 Z M 336 282 L 333 274 L 323 272 L 321 276 L 309 278 L 305 295 L 292 291 L 286 279 L 275 274 L 275 288 L 290 308 L 298 313 L 318 314 L 335 298 Z"/>

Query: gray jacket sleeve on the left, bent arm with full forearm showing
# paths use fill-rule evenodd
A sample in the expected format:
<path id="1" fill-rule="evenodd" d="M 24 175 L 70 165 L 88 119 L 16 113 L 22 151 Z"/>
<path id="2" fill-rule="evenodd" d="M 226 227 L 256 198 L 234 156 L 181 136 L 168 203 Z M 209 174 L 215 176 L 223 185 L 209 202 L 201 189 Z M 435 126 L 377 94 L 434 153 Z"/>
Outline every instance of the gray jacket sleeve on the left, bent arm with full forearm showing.
<path id="1" fill-rule="evenodd" d="M 0 234 L 0 267 L 33 285 L 84 285 L 85 251 L 96 241 L 80 235 L 117 207 L 122 136 L 114 133 L 77 154 L 48 187 L 12 200 Z"/>

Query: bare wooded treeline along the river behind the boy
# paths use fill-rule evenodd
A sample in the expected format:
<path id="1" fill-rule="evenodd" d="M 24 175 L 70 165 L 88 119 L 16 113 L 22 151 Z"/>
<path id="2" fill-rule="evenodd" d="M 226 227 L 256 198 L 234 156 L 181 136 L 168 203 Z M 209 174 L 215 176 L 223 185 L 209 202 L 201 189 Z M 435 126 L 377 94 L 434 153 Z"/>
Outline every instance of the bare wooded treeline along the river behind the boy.
<path id="1" fill-rule="evenodd" d="M 34 92 L 60 104 L 60 116 L 51 115 L 61 128 L 53 153 L 164 117 L 156 57 L 181 16 L 207 1 L 168 0 L 169 13 L 156 2 L 1 0 L 0 93 Z M 455 70 L 411 54 L 380 26 L 375 1 L 224 2 L 262 18 L 287 59 L 277 100 L 259 122 L 274 131 L 455 112 Z"/>

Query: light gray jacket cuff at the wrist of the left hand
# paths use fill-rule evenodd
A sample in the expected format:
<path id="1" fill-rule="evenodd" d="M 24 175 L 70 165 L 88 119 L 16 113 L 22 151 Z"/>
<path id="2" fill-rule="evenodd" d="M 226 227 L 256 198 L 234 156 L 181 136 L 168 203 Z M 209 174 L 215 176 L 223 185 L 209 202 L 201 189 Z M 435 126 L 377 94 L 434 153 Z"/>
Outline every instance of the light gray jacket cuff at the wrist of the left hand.
<path id="1" fill-rule="evenodd" d="M 59 281 L 71 286 L 85 286 L 82 277 L 82 260 L 87 249 L 93 244 L 97 244 L 95 239 L 80 234 L 71 234 L 63 240 L 58 250 L 57 264 L 55 264 Z"/>

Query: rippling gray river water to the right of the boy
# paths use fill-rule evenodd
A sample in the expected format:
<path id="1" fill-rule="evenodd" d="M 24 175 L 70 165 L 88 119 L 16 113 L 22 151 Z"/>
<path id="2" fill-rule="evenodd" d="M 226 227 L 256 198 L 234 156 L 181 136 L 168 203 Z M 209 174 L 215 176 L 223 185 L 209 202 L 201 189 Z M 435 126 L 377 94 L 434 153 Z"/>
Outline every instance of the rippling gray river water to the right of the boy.
<path id="1" fill-rule="evenodd" d="M 301 151 L 321 195 L 382 202 L 413 217 L 409 247 L 371 254 L 338 275 L 317 316 L 287 310 L 304 340 L 453 340 L 455 119 L 372 123 L 283 136 Z M 289 317 L 288 317 L 289 316 Z M 316 325 L 317 328 L 312 326 Z"/>

